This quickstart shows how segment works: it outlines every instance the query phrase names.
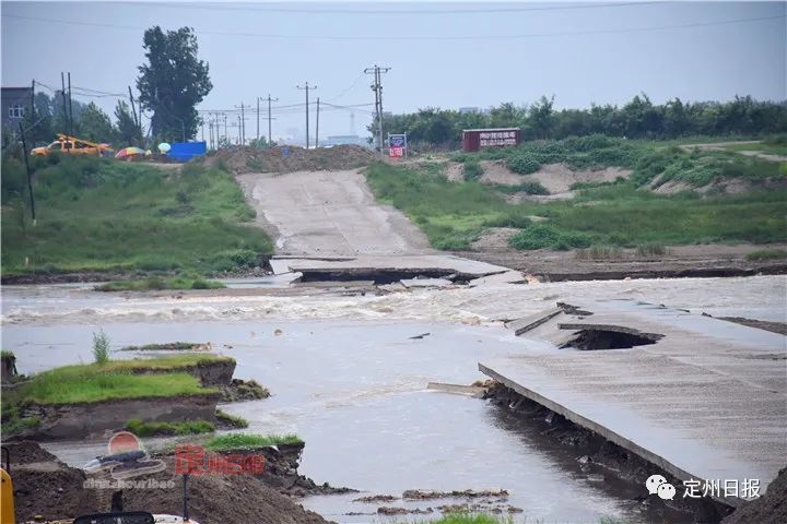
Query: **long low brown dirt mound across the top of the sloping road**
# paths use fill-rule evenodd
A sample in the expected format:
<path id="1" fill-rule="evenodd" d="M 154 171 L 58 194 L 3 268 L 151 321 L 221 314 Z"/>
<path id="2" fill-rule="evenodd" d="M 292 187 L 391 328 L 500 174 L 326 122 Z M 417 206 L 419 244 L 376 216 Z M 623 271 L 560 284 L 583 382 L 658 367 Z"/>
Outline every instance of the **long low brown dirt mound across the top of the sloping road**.
<path id="1" fill-rule="evenodd" d="M 373 159 L 374 153 L 360 145 L 337 145 L 317 150 L 295 146 L 262 150 L 243 145 L 220 150 L 202 162 L 209 166 L 223 164 L 235 174 L 240 175 L 244 172 L 341 171 L 363 167 Z"/>

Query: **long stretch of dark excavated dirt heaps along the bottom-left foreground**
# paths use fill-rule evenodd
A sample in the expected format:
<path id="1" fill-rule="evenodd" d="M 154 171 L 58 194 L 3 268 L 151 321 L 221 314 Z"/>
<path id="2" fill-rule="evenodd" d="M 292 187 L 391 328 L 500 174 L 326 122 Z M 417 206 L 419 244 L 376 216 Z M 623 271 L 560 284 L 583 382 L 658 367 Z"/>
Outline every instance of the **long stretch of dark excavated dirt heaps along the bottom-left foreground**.
<path id="1" fill-rule="evenodd" d="M 14 483 L 17 522 L 42 515 L 46 520 L 73 519 L 80 514 L 109 511 L 113 501 L 122 501 L 126 511 L 148 511 L 178 515 L 183 510 L 183 479 L 175 474 L 174 457 L 161 457 L 167 468 L 155 474 L 134 477 L 134 481 L 156 480 L 156 489 L 94 489 L 86 475 L 70 467 L 30 441 L 4 443 L 11 452 L 11 475 Z M 195 475 L 189 479 L 189 515 L 202 523 L 320 524 L 318 514 L 304 510 L 271 487 L 270 478 L 292 480 L 291 458 L 266 455 L 270 461 L 269 480 L 251 475 Z M 283 469 L 282 469 L 283 468 Z M 287 475 L 279 477 L 286 471 Z M 101 474 L 99 474 L 101 475 Z M 295 478 L 301 478 L 295 476 Z M 87 481 L 87 484 L 85 484 Z M 307 485 L 308 481 L 301 480 Z"/>

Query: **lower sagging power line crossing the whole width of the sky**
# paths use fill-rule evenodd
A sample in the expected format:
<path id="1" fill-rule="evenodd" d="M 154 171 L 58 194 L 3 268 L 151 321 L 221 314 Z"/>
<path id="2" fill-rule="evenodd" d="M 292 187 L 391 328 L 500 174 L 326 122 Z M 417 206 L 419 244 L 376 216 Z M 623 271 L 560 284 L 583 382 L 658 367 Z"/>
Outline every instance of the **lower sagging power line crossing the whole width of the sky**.
<path id="1" fill-rule="evenodd" d="M 48 22 L 54 24 L 66 24 L 66 25 L 81 25 L 87 27 L 108 27 L 117 29 L 133 29 L 133 31 L 146 31 L 148 27 L 131 26 L 131 25 L 117 25 L 117 24 L 99 24 L 93 22 L 78 22 L 78 21 L 64 21 L 64 20 L 52 20 L 42 19 L 36 16 L 21 16 L 16 14 L 2 14 L 3 17 L 17 19 L 17 20 L 30 20 L 36 22 Z M 742 24 L 750 22 L 765 22 L 773 20 L 784 20 L 787 15 L 779 14 L 776 16 L 757 16 L 752 19 L 735 19 L 735 20 L 721 20 L 716 22 L 696 22 L 692 24 L 677 24 L 677 25 L 658 25 L 649 27 L 624 27 L 615 29 L 589 29 L 589 31 L 567 31 L 567 32 L 555 32 L 555 33 L 529 33 L 519 35 L 420 35 L 420 36 L 408 36 L 408 35 L 278 35 L 278 34 L 262 34 L 262 33 L 232 33 L 223 31 L 195 31 L 197 35 L 214 35 L 214 36 L 244 36 L 252 38 L 278 38 L 278 39 L 292 39 L 292 40 L 506 40 L 506 39 L 520 39 L 520 38 L 548 38 L 555 36 L 597 36 L 597 35 L 615 35 L 626 33 L 638 33 L 638 32 L 654 32 L 654 31 L 667 31 L 667 29 L 685 29 L 694 27 L 712 27 L 717 25 L 730 25 L 730 24 Z"/>

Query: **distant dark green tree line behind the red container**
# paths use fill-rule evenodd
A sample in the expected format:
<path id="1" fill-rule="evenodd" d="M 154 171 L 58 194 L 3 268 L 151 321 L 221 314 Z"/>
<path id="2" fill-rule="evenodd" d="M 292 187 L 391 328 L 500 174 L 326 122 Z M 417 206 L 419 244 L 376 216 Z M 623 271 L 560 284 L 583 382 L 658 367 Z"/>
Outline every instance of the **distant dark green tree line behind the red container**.
<path id="1" fill-rule="evenodd" d="M 369 126 L 374 134 L 376 122 Z M 629 139 L 665 140 L 681 136 L 764 135 L 787 132 L 787 100 L 759 102 L 736 96 L 726 103 L 684 103 L 674 98 L 655 105 L 647 95 L 622 107 L 592 105 L 589 109 L 554 109 L 554 97 L 542 96 L 530 106 L 501 104 L 489 111 L 459 112 L 439 108 L 386 115 L 386 132 L 408 133 L 414 147 L 454 148 L 462 129 L 519 128 L 522 140 L 564 139 L 606 134 Z"/>

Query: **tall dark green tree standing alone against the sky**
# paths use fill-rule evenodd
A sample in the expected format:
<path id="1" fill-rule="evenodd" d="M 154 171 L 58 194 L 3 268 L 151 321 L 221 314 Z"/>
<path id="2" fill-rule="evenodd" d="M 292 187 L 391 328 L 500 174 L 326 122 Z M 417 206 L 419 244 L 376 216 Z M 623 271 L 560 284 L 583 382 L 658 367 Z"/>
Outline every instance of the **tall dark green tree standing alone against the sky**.
<path id="1" fill-rule="evenodd" d="M 153 135 L 169 141 L 197 134 L 197 104 L 210 93 L 208 63 L 197 58 L 197 37 L 191 27 L 164 33 L 157 25 L 145 31 L 143 48 L 148 63 L 139 67 L 137 88 L 142 105 L 153 111 Z"/>

